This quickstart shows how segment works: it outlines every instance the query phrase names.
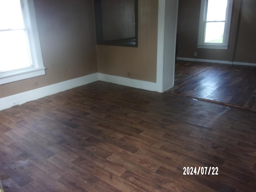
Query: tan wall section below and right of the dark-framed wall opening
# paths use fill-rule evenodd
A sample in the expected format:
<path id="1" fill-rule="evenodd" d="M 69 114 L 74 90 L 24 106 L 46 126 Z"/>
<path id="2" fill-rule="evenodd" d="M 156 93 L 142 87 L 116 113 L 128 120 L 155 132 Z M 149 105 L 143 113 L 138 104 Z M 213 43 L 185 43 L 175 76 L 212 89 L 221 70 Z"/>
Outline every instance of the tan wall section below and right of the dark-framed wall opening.
<path id="1" fill-rule="evenodd" d="M 158 0 L 138 1 L 138 22 L 138 48 L 97 45 L 98 72 L 156 82 Z"/>

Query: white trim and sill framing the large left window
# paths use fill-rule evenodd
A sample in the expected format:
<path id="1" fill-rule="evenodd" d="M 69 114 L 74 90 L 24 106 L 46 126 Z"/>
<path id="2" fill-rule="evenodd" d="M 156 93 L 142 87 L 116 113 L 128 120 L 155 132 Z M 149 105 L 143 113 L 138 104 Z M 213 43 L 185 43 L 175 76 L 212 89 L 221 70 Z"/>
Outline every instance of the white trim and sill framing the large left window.
<path id="1" fill-rule="evenodd" d="M 32 58 L 32 66 L 18 70 L 0 72 L 0 84 L 6 84 L 18 80 L 45 75 L 45 67 L 38 35 L 36 13 L 33 0 L 21 0 L 25 15 L 24 21 L 28 27 L 28 38 Z"/>

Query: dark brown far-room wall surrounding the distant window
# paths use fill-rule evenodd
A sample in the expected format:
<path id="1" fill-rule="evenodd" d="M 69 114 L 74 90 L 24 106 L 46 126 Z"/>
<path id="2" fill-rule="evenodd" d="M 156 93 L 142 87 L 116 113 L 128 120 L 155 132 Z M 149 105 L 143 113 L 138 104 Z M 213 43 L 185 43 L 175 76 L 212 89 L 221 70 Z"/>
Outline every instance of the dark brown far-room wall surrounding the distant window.
<path id="1" fill-rule="evenodd" d="M 256 63 L 256 1 L 234 0 L 228 50 L 197 48 L 200 2 L 179 0 L 177 57 Z"/>

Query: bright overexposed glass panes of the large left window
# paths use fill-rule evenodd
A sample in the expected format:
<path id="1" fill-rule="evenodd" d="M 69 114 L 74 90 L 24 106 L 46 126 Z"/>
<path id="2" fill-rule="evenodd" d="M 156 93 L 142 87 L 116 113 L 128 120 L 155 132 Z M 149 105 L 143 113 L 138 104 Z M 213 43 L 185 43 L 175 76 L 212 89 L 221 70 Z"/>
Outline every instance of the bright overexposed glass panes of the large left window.
<path id="1" fill-rule="evenodd" d="M 31 66 L 20 0 L 0 0 L 0 72 Z"/>

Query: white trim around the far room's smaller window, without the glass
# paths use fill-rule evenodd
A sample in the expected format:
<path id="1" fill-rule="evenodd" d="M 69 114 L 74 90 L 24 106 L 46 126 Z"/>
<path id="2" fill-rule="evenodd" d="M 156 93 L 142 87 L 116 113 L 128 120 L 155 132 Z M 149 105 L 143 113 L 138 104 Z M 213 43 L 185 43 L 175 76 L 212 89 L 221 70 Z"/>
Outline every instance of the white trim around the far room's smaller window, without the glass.
<path id="1" fill-rule="evenodd" d="M 228 8 L 226 12 L 226 22 L 223 34 L 223 43 L 204 43 L 205 35 L 205 21 L 207 16 L 207 2 L 208 0 L 201 0 L 201 11 L 199 20 L 199 31 L 198 31 L 198 44 L 197 48 L 205 49 L 228 49 L 228 39 L 230 34 L 230 24 L 232 17 L 233 0 L 228 0 Z"/>

